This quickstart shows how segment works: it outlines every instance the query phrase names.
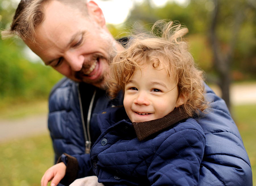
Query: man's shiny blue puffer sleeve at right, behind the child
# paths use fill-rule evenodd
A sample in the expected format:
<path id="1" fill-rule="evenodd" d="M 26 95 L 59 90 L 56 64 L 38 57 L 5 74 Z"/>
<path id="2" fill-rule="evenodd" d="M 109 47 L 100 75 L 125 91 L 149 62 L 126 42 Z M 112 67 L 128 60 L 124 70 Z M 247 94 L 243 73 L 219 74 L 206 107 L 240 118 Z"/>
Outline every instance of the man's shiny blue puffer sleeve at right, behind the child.
<path id="1" fill-rule="evenodd" d="M 252 185 L 250 161 L 226 103 L 207 86 L 210 110 L 197 119 L 206 136 L 199 186 Z"/>

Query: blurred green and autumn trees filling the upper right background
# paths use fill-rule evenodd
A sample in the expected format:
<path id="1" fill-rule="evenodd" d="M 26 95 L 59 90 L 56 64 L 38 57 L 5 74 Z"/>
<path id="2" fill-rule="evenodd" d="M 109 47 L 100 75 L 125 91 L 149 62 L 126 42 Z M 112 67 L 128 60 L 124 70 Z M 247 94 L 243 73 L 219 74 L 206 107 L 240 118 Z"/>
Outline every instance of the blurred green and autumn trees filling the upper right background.
<path id="1" fill-rule="evenodd" d="M 255 1 L 191 0 L 183 5 L 169 1 L 164 7 L 152 6 L 150 0 L 137 4 L 127 23 L 136 21 L 149 29 L 156 20 L 170 19 L 187 26 L 195 62 L 207 73 L 208 82 L 220 86 L 230 107 L 231 81 L 255 79 Z"/>

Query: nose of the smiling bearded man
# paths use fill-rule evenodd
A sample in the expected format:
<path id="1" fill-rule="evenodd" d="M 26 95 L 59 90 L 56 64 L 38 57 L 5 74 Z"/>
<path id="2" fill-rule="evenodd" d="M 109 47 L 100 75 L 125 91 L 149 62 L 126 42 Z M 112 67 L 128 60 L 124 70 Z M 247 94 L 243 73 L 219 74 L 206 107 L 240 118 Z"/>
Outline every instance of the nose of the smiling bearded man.
<path id="1" fill-rule="evenodd" d="M 73 71 L 80 71 L 84 63 L 84 56 L 75 52 L 66 53 L 65 59 Z"/>

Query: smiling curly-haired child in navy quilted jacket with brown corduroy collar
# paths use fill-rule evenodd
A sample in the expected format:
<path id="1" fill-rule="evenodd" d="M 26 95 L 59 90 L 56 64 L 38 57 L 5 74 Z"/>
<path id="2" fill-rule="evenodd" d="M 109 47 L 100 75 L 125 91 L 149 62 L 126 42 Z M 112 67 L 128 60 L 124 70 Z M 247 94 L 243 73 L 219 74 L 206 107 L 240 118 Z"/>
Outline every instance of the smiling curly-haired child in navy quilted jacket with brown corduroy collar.
<path id="1" fill-rule="evenodd" d="M 98 115 L 102 134 L 90 156 L 99 183 L 197 185 L 205 134 L 191 117 L 208 105 L 202 72 L 182 39 L 186 33 L 187 28 L 169 22 L 162 37 L 133 37 L 116 56 L 109 94 L 114 98 L 122 90 L 124 107 Z M 78 160 L 79 167 L 82 163 Z M 42 186 L 55 175 L 45 174 Z M 71 185 L 90 185 L 89 179 Z"/>

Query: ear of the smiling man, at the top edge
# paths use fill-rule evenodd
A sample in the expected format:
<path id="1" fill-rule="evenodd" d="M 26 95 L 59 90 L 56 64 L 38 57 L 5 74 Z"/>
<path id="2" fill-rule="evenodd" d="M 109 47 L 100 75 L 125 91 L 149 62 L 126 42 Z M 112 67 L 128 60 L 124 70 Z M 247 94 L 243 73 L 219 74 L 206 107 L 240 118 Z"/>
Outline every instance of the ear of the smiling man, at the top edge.
<path id="1" fill-rule="evenodd" d="M 87 1 L 88 14 L 101 27 L 106 24 L 102 10 L 94 1 Z"/>

